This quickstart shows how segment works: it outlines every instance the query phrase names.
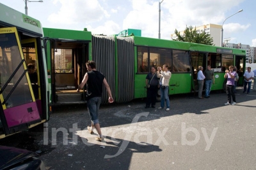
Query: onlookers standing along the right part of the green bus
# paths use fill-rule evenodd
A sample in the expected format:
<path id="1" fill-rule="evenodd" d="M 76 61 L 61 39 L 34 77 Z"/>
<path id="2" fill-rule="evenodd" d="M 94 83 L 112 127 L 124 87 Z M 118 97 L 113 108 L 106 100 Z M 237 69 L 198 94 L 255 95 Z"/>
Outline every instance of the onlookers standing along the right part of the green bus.
<path id="1" fill-rule="evenodd" d="M 244 91 L 243 93 L 250 94 L 250 88 L 252 80 L 256 81 L 256 69 L 251 71 L 251 68 L 246 68 L 247 71 L 244 72 Z M 198 84 L 198 98 L 204 99 L 209 98 L 211 93 L 211 86 L 215 83 L 214 72 L 211 70 L 211 65 L 207 66 L 207 69 L 203 72 L 204 68 L 200 66 L 197 72 L 197 84 Z M 151 67 L 151 72 L 147 74 L 146 86 L 147 86 L 147 102 L 146 107 L 155 108 L 156 107 L 156 96 L 157 89 L 161 90 L 161 106 L 158 109 L 163 109 L 166 102 L 166 111 L 170 110 L 170 100 L 169 100 L 169 81 L 172 73 L 168 70 L 167 65 L 156 68 Z M 239 81 L 239 75 L 237 73 L 236 66 L 230 65 L 227 70 L 225 70 L 224 78 L 227 79 L 226 91 L 227 91 L 227 103 L 225 105 L 236 105 L 236 86 Z M 248 86 L 248 87 L 247 87 Z M 205 87 L 205 96 L 202 97 L 202 92 Z M 253 83 L 253 90 L 256 90 L 256 83 Z M 231 102 L 232 101 L 232 102 Z"/>

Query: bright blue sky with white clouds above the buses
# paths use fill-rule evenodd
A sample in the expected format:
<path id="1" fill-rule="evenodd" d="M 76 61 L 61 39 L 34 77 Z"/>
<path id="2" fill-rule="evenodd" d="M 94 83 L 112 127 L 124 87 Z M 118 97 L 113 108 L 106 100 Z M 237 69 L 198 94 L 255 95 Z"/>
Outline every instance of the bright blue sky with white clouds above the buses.
<path id="1" fill-rule="evenodd" d="M 0 0 L 0 3 L 25 13 L 24 1 Z M 43 3 L 28 2 L 28 15 L 40 20 L 43 27 L 80 31 L 87 28 L 92 34 L 103 35 L 115 35 L 124 29 L 141 29 L 141 36 L 158 38 L 161 1 L 44 0 Z M 170 35 L 175 29 L 184 31 L 187 26 L 222 25 L 225 21 L 223 40 L 230 38 L 229 43 L 256 47 L 255 6 L 255 0 L 163 0 L 161 39 L 171 40 Z M 239 10 L 243 12 L 237 13 Z"/>

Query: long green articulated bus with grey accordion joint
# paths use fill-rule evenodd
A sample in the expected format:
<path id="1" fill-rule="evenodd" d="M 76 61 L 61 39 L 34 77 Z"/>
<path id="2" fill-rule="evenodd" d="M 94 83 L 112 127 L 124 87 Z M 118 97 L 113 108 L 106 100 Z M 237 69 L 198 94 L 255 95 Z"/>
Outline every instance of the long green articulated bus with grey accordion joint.
<path id="1" fill-rule="evenodd" d="M 44 28 L 52 104 L 84 103 L 85 91 L 76 92 L 93 60 L 104 73 L 116 102 L 145 98 L 145 77 L 151 66 L 168 65 L 172 72 L 169 95 L 196 93 L 197 70 L 211 65 L 215 83 L 211 90 L 225 90 L 225 70 L 237 66 L 243 85 L 245 50 L 141 36 L 92 35 L 90 31 Z M 102 103 L 108 102 L 104 89 Z"/>

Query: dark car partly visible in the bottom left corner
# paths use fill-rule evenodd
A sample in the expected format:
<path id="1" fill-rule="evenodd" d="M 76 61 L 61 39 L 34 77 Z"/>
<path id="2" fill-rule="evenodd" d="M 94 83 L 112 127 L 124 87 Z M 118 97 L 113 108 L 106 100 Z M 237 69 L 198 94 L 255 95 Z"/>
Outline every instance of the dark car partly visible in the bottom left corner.
<path id="1" fill-rule="evenodd" d="M 0 146 L 0 169 L 45 170 L 45 166 L 33 151 Z"/>

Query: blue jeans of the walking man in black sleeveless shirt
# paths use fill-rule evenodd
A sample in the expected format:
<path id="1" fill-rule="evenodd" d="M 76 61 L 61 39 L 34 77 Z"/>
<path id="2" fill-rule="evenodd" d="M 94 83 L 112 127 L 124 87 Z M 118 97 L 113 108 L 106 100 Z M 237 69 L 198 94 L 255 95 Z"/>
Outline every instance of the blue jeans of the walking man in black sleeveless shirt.
<path id="1" fill-rule="evenodd" d="M 101 97 L 93 97 L 89 100 L 86 100 L 86 102 L 91 121 L 93 122 L 93 125 L 95 125 L 99 123 L 98 113 L 100 108 Z"/>

